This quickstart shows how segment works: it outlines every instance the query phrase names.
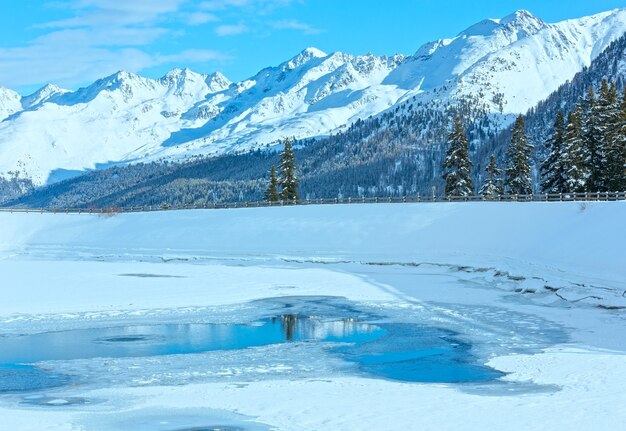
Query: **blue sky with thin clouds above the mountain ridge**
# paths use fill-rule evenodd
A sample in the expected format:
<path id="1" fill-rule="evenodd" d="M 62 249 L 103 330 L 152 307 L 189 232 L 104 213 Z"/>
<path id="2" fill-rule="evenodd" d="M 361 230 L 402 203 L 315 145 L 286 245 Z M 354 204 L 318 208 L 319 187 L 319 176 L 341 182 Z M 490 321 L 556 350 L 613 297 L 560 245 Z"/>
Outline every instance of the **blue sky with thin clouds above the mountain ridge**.
<path id="1" fill-rule="evenodd" d="M 75 89 L 117 70 L 173 67 L 252 76 L 308 46 L 411 54 L 484 18 L 528 9 L 544 21 L 626 0 L 21 0 L 2 2 L 0 85 Z"/>

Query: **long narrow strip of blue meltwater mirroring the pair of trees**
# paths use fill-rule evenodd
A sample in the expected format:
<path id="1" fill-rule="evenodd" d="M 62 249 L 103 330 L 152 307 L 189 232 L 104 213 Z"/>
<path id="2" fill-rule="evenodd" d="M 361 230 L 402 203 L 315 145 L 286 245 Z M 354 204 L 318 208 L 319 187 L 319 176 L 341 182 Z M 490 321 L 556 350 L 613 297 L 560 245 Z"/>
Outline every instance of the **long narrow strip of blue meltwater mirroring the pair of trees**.
<path id="1" fill-rule="evenodd" d="M 0 364 L 238 350 L 293 341 L 363 343 L 386 334 L 352 319 L 283 315 L 252 324 L 168 324 L 79 329 L 0 338 Z"/>

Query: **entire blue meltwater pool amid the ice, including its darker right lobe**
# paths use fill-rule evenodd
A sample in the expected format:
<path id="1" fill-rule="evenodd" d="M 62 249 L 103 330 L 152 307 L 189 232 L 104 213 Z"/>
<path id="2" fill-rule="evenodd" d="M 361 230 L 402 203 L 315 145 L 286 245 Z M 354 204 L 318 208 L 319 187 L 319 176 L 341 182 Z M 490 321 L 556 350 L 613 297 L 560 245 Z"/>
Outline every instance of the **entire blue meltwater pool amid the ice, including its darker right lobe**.
<path id="1" fill-rule="evenodd" d="M 154 357 L 240 350 L 289 342 L 329 345 L 360 372 L 410 382 L 482 382 L 501 376 L 476 363 L 455 333 L 413 324 L 282 315 L 251 324 L 166 324 L 77 329 L 0 338 L 0 392 L 47 389 L 69 379 L 45 361 Z M 4 365 L 3 365 L 4 364 Z"/>

